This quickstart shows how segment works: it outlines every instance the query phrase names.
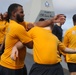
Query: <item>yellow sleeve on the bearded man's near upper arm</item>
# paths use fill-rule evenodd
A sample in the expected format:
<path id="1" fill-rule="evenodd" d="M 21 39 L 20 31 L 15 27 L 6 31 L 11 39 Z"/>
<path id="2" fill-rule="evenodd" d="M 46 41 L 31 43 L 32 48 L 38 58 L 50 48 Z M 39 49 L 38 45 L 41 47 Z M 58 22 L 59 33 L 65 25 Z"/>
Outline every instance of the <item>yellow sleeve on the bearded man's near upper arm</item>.
<path id="1" fill-rule="evenodd" d="M 16 36 L 24 44 L 32 41 L 26 29 L 21 25 L 16 29 Z"/>

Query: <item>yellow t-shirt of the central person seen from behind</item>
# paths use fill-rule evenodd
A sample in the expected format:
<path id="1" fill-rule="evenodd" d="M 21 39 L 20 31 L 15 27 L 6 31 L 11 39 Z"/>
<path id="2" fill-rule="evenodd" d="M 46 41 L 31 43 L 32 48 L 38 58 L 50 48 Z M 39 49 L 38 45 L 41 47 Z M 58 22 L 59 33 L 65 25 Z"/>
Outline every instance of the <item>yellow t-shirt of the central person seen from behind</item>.
<path id="1" fill-rule="evenodd" d="M 65 46 L 50 30 L 35 26 L 28 31 L 28 34 L 34 42 L 33 56 L 36 63 L 56 64 L 61 61 L 57 47 L 64 50 Z"/>

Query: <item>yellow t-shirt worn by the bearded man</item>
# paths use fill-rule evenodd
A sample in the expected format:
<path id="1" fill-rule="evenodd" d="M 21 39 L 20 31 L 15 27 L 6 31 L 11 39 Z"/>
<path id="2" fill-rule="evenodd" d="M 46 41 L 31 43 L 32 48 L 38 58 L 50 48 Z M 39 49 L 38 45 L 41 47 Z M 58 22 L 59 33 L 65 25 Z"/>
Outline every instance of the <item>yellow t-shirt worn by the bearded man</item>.
<path id="1" fill-rule="evenodd" d="M 0 65 L 10 68 L 10 69 L 20 69 L 24 66 L 24 59 L 26 55 L 26 48 L 19 50 L 19 57 L 16 61 L 10 58 L 12 47 L 18 42 L 28 43 L 31 41 L 25 28 L 18 24 L 17 22 L 10 20 L 6 40 L 5 40 L 5 50 L 1 56 Z"/>

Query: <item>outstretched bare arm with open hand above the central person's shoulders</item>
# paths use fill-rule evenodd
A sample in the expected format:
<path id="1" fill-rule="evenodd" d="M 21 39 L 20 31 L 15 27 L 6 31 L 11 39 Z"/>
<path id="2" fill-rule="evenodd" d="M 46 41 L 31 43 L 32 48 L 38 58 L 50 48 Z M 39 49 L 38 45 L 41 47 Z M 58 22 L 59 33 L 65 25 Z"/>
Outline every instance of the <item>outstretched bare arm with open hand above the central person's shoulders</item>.
<path id="1" fill-rule="evenodd" d="M 29 31 L 34 26 L 39 26 L 39 27 L 50 26 L 52 28 L 53 25 L 54 25 L 54 23 L 59 23 L 60 22 L 60 20 L 57 19 L 58 16 L 59 15 L 56 15 L 56 16 L 52 17 L 51 19 L 47 19 L 47 20 L 44 20 L 44 21 L 38 21 L 38 22 L 34 22 L 34 23 L 28 23 L 26 30 Z"/>

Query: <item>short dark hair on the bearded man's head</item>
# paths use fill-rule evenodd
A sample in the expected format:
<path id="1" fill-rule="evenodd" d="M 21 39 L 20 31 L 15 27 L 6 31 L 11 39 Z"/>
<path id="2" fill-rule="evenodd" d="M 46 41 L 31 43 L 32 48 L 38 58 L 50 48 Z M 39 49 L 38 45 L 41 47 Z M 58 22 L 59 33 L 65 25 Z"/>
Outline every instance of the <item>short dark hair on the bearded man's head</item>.
<path id="1" fill-rule="evenodd" d="M 13 11 L 16 11 L 17 8 L 18 8 L 18 6 L 22 7 L 22 5 L 17 4 L 17 3 L 13 3 L 13 4 L 11 4 L 11 5 L 8 7 L 8 11 L 7 11 L 7 13 L 8 13 L 8 20 L 11 19 L 12 12 L 13 12 Z"/>

